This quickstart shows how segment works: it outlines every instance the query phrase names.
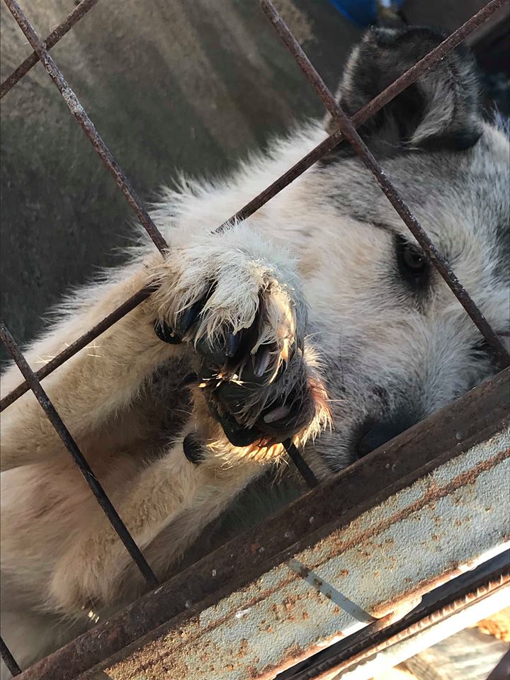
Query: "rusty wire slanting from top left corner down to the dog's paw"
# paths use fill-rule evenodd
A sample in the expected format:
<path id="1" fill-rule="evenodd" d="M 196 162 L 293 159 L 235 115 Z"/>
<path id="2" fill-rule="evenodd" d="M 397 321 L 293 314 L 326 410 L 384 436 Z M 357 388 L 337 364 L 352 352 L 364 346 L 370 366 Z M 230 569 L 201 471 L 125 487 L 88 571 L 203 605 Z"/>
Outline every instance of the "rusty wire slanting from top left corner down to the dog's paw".
<path id="1" fill-rule="evenodd" d="M 105 142 L 103 142 L 101 135 L 99 135 L 98 131 L 94 127 L 94 123 L 92 123 L 89 115 L 86 113 L 83 106 L 81 106 L 76 94 L 74 94 L 72 89 L 69 87 L 69 84 L 62 75 L 60 69 L 57 67 L 57 64 L 55 64 L 53 58 L 50 56 L 45 46 L 38 38 L 37 33 L 35 33 L 33 26 L 31 26 L 29 23 L 25 14 L 21 10 L 21 7 L 18 5 L 16 0 L 4 0 L 4 2 L 12 16 L 16 19 L 16 23 L 18 23 L 18 26 L 23 31 L 26 39 L 28 42 L 30 42 L 30 46 L 38 56 L 38 59 L 45 67 L 47 74 L 57 86 L 60 94 L 62 94 L 65 103 L 67 103 L 67 106 L 69 107 L 69 111 L 71 111 L 72 115 L 74 115 L 74 118 L 77 119 L 86 136 L 89 137 L 89 140 L 96 150 L 96 153 L 106 165 L 106 168 L 113 176 L 115 183 L 120 188 L 120 191 L 122 191 L 124 194 L 131 208 L 135 211 L 135 214 L 142 224 L 142 227 L 144 227 L 147 234 L 149 234 L 149 237 L 151 237 L 157 249 L 162 254 L 164 254 L 164 252 L 168 249 L 168 245 L 166 244 L 164 237 L 162 236 L 161 232 L 159 232 L 157 226 L 154 225 L 152 217 L 150 217 L 147 209 L 142 204 L 142 201 L 140 198 L 138 198 L 123 170 L 120 169 L 117 162 L 113 158 L 110 149 L 108 149 Z"/>

